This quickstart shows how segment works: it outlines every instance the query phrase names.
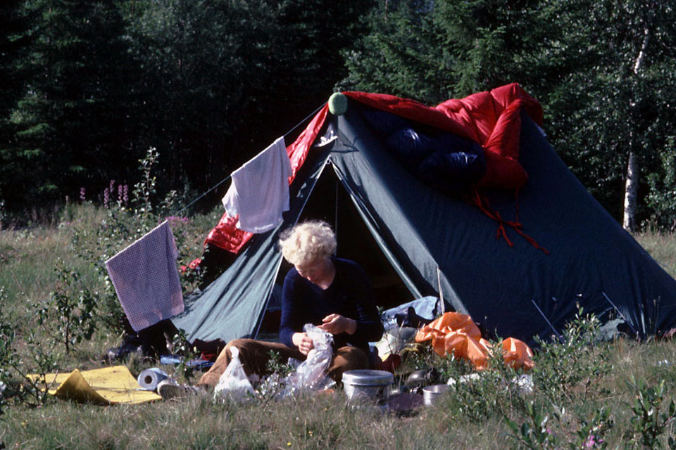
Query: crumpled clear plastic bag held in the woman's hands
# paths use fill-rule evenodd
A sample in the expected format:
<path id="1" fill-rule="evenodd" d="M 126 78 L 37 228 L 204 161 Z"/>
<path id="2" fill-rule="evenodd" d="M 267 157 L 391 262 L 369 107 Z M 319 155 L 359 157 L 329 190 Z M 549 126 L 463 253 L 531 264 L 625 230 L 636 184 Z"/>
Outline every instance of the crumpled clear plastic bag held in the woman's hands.
<path id="1" fill-rule="evenodd" d="M 317 328 L 311 323 L 303 326 L 303 331 L 308 333 L 308 337 L 313 342 L 313 349 L 308 353 L 308 357 L 289 373 L 284 380 L 284 392 L 282 396 L 295 394 L 301 391 L 322 391 L 327 390 L 336 384 L 326 373 L 333 358 L 333 335 Z"/>

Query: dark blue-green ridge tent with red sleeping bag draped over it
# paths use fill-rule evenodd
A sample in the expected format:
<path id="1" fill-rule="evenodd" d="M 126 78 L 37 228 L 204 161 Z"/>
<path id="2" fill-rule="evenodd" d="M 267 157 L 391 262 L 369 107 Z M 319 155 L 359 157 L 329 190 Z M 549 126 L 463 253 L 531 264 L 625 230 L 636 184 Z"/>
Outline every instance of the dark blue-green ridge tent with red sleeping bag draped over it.
<path id="1" fill-rule="evenodd" d="M 396 274 L 408 297 L 390 301 L 440 288 L 489 336 L 532 344 L 561 332 L 578 306 L 603 321 L 622 319 L 639 337 L 675 326 L 676 281 L 558 158 L 539 126 L 542 109 L 517 84 L 435 108 L 344 94 L 344 115 L 325 105 L 287 147 L 294 175 L 283 224 L 252 237 L 224 218 L 210 233 L 208 241 L 239 253 L 172 319 L 189 340 L 256 337 L 285 273 L 279 233 L 313 205 L 337 227 L 338 256 Z M 415 176 L 384 148 L 365 119 L 371 110 L 480 143 L 487 170 L 473 196 L 439 192 Z"/>

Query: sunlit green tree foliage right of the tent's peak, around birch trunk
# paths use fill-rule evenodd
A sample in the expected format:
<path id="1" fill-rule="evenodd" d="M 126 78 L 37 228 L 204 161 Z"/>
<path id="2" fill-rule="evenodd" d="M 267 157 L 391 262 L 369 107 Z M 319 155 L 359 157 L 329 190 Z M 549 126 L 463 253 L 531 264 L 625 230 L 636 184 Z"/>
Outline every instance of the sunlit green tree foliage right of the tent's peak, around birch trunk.
<path id="1" fill-rule="evenodd" d="M 368 19 L 368 34 L 346 53 L 342 86 L 434 104 L 519 82 L 542 103 L 553 146 L 615 217 L 630 151 L 649 174 L 641 185 L 643 195 L 649 191 L 649 210 L 641 217 L 651 214 L 658 224 L 673 217 L 676 21 L 668 3 L 401 0 L 380 6 Z"/>

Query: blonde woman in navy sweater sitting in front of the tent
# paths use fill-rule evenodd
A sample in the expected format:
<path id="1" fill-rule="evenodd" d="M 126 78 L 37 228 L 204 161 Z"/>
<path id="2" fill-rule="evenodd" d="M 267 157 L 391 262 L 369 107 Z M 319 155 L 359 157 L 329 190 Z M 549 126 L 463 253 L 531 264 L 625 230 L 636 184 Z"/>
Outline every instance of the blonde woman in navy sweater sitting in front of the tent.
<path id="1" fill-rule="evenodd" d="M 339 259 L 336 236 L 324 221 L 306 221 L 282 233 L 282 255 L 294 267 L 284 278 L 280 340 L 236 339 L 220 352 L 198 385 L 214 387 L 230 363 L 230 349 L 239 349 L 247 375 L 264 375 L 270 350 L 284 361 L 304 360 L 313 342 L 303 326 L 313 323 L 334 338 L 328 375 L 340 381 L 344 371 L 370 367 L 368 342 L 380 340 L 382 323 L 373 302 L 370 283 L 355 262 Z"/>

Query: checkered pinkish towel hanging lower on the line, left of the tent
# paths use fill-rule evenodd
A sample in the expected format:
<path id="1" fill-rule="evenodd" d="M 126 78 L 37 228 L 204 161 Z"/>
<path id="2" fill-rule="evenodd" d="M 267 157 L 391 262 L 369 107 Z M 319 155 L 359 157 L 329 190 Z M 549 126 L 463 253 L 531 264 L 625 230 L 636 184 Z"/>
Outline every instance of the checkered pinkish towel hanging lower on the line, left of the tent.
<path id="1" fill-rule="evenodd" d="M 167 221 L 106 261 L 115 293 L 135 331 L 183 311 L 178 251 Z"/>

